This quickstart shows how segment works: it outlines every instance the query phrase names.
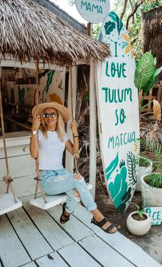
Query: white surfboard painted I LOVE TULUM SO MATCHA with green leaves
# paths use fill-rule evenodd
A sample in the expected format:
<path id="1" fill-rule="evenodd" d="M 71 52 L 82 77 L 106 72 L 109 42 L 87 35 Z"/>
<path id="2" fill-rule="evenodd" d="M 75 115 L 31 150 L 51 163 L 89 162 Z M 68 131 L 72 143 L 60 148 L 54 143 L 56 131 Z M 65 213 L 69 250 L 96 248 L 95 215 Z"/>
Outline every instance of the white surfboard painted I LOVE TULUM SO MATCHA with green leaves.
<path id="1" fill-rule="evenodd" d="M 101 158 L 108 194 L 123 212 L 134 195 L 139 164 L 136 65 L 128 32 L 115 12 L 103 21 L 98 39 L 112 54 L 95 68 Z"/>

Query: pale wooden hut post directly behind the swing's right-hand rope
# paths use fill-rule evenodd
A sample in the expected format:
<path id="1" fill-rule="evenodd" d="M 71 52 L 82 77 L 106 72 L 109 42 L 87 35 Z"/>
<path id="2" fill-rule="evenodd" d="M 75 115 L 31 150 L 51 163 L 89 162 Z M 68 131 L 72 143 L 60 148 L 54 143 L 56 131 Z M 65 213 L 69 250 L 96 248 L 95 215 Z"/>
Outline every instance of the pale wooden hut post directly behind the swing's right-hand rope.
<path id="1" fill-rule="evenodd" d="M 73 109 L 74 109 L 74 115 L 75 115 L 75 108 L 76 108 L 76 93 L 77 93 L 77 66 L 72 66 L 72 88 L 73 88 Z M 69 72 L 69 82 L 68 82 L 68 109 L 71 109 L 71 88 L 70 88 L 70 72 Z M 67 123 L 67 135 L 70 138 L 70 140 L 72 141 L 72 130 L 70 130 L 70 123 L 72 121 L 72 117 L 70 116 L 70 119 Z M 69 172 L 73 172 L 74 169 L 74 157 L 70 154 L 70 152 L 68 152 L 68 150 L 66 150 L 66 154 L 65 154 L 65 168 L 69 171 Z"/>

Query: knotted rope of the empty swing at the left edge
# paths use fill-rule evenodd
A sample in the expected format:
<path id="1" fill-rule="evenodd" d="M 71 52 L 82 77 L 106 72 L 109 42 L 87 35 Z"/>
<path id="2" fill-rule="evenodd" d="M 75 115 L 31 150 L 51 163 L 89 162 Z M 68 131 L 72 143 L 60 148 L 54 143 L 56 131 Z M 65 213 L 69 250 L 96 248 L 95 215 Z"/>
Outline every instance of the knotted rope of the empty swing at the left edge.
<path id="1" fill-rule="evenodd" d="M 0 78 L 1 78 L 1 67 L 0 67 Z M 5 139 L 5 130 L 4 130 L 4 121 L 3 121 L 3 108 L 2 108 L 2 97 L 1 97 L 1 81 L 0 81 L 0 114 L 1 114 L 1 128 L 2 128 L 2 137 L 3 137 L 3 147 L 4 147 L 4 153 L 5 153 L 5 160 L 6 160 L 6 170 L 7 170 L 7 175 L 3 177 L 3 181 L 6 182 L 7 188 L 6 188 L 6 193 L 8 193 L 9 187 L 12 192 L 14 202 L 17 203 L 16 196 L 14 194 L 14 190 L 12 188 L 10 172 L 9 172 L 9 166 L 8 166 L 8 155 L 7 155 L 7 149 L 6 149 L 6 139 Z"/>

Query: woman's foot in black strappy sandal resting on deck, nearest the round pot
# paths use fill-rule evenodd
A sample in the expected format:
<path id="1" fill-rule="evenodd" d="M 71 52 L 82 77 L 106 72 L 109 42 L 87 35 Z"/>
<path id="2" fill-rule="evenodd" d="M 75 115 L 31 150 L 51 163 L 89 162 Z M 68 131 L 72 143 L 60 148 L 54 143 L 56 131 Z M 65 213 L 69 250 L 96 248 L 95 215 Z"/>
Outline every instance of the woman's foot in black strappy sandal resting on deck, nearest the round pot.
<path id="1" fill-rule="evenodd" d="M 103 217 L 100 221 L 97 221 L 93 217 L 91 223 L 99 226 L 105 233 L 114 234 L 117 232 L 117 228 L 113 224 L 110 224 L 110 221 L 108 221 L 105 217 Z"/>

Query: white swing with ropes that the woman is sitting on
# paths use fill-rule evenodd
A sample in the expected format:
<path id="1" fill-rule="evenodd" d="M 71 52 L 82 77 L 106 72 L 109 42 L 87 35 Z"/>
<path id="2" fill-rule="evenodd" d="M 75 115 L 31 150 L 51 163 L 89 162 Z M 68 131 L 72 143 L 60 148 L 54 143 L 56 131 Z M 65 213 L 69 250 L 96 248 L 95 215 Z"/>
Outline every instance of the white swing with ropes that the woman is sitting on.
<path id="1" fill-rule="evenodd" d="M 37 84 L 39 84 L 39 65 L 37 62 Z M 70 67 L 70 93 L 71 93 L 71 112 L 72 112 L 72 119 L 74 119 L 74 109 L 73 109 L 73 95 L 72 95 L 73 89 L 72 89 L 72 68 Z M 39 88 L 37 89 L 36 93 L 36 103 L 38 106 L 38 100 L 39 100 Z M 74 137 L 73 137 L 73 144 L 74 144 Z M 79 170 L 77 168 L 77 159 L 79 158 L 79 155 L 76 153 L 76 148 L 74 145 L 74 165 L 75 165 L 75 172 L 77 172 L 79 175 Z M 43 188 L 41 187 L 41 181 L 39 177 L 39 157 L 35 160 L 36 164 L 36 173 L 37 177 L 34 178 L 37 180 L 36 188 L 35 188 L 35 194 L 34 199 L 30 199 L 30 204 L 32 206 L 36 206 L 37 208 L 41 208 L 43 210 L 48 210 L 48 208 L 52 208 L 54 206 L 57 206 L 63 202 L 66 201 L 67 195 L 65 193 L 59 194 L 59 195 L 45 195 L 43 192 Z M 87 184 L 88 190 L 92 189 L 91 184 Z M 37 197 L 37 191 L 38 188 L 41 190 L 41 195 Z"/>

